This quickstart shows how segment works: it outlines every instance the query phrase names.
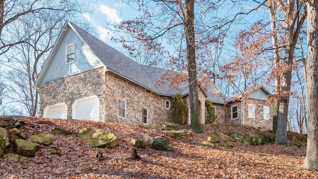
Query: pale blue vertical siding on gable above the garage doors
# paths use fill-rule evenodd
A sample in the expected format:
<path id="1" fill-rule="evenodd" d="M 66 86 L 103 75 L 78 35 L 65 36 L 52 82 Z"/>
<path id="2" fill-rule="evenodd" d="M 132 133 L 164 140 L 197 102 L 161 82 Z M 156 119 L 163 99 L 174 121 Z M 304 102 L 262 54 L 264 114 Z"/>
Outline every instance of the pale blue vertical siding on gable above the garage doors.
<path id="1" fill-rule="evenodd" d="M 50 66 L 43 77 L 41 84 L 51 82 L 57 79 L 65 78 L 71 75 L 79 74 L 88 70 L 92 70 L 103 66 L 101 61 L 94 55 L 88 45 L 73 31 L 72 28 L 63 31 L 61 37 L 62 41 L 58 46 L 55 54 L 51 54 L 53 58 Z M 75 44 L 75 62 L 66 63 L 66 46 L 69 44 Z"/>

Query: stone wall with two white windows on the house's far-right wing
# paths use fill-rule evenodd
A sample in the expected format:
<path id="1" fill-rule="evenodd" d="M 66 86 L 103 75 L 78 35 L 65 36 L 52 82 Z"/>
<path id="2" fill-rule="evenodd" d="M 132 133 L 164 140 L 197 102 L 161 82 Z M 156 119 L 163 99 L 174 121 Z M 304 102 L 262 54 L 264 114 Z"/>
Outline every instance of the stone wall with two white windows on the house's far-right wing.
<path id="1" fill-rule="evenodd" d="M 260 127 L 270 130 L 273 128 L 273 105 L 257 99 L 243 99 L 243 125 Z M 248 117 L 248 104 L 254 104 L 255 117 Z M 263 119 L 263 106 L 269 107 L 269 119 Z"/>

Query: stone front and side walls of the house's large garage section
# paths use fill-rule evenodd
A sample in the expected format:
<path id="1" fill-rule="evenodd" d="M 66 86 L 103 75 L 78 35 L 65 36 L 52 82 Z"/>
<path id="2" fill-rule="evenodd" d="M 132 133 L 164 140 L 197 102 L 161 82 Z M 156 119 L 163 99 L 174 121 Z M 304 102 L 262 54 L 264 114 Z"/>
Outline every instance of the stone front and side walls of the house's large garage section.
<path id="1" fill-rule="evenodd" d="M 50 105 L 66 103 L 67 118 L 72 118 L 72 105 L 76 99 L 96 95 L 99 98 L 99 120 L 131 125 L 153 125 L 165 121 L 171 108 L 165 101 L 171 97 L 160 96 L 127 80 L 119 78 L 103 67 L 41 84 L 40 115 Z M 118 116 L 118 100 L 126 101 L 126 117 Z M 148 110 L 148 124 L 143 123 L 142 110 Z"/>

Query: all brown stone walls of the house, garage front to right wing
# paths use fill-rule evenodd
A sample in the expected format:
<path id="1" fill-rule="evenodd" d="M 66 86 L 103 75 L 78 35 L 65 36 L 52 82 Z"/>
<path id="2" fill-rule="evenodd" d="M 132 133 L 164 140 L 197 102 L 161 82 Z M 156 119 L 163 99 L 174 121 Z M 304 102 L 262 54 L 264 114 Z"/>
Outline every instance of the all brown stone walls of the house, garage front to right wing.
<path id="1" fill-rule="evenodd" d="M 156 122 L 167 121 L 171 108 L 167 109 L 165 101 L 171 101 L 169 96 L 161 96 L 112 73 L 104 72 L 104 68 L 89 70 L 83 73 L 41 84 L 40 115 L 44 108 L 50 105 L 65 103 L 67 118 L 71 119 L 72 105 L 75 100 L 96 95 L 99 98 L 99 121 L 125 123 L 131 125 L 153 125 Z M 198 92 L 200 108 L 205 109 L 205 93 Z M 118 115 L 118 100 L 126 102 L 126 116 Z M 189 106 L 189 96 L 185 96 Z M 255 117 L 248 117 L 248 104 L 254 104 Z M 273 107 L 263 100 L 243 99 L 230 105 L 216 104 L 216 123 L 248 125 L 263 129 L 272 128 Z M 232 107 L 237 106 L 238 114 L 232 119 Z M 263 106 L 269 107 L 269 119 L 263 119 Z M 143 108 L 148 111 L 148 123 L 143 123 Z M 189 110 L 190 111 L 190 110 Z M 226 115 L 227 114 L 227 115 Z M 190 123 L 190 113 L 187 116 Z M 205 110 L 200 110 L 201 123 L 205 123 Z"/>

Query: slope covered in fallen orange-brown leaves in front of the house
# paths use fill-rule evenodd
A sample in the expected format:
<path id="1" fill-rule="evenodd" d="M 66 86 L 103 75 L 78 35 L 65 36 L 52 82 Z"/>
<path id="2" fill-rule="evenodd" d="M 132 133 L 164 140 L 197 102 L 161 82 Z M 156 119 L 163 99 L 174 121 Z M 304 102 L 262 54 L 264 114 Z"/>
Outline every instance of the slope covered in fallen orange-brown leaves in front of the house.
<path id="1" fill-rule="evenodd" d="M 125 124 L 84 120 L 52 119 L 54 124 L 37 124 L 41 118 L 21 117 L 28 135 L 45 132 L 54 135 L 51 146 L 41 146 L 34 158 L 14 163 L 0 157 L 0 176 L 8 179 L 315 179 L 318 172 L 301 167 L 306 147 L 284 147 L 274 144 L 247 147 L 234 143 L 233 148 L 197 145 L 206 141 L 208 134 L 219 131 L 238 131 L 243 134 L 259 132 L 253 128 L 205 125 L 204 134 L 188 136 L 186 140 L 173 139 L 164 131 L 134 127 Z M 34 128 L 31 125 L 35 125 Z M 51 133 L 59 127 L 72 132 L 63 136 Z M 90 148 L 77 137 L 81 128 L 107 129 L 119 138 L 116 148 Z M 171 142 L 171 151 L 159 151 L 146 146 L 138 149 L 140 160 L 132 160 L 132 138 L 147 141 L 149 137 L 163 136 Z M 61 149 L 60 155 L 50 155 L 51 148 Z M 98 161 L 100 151 L 104 160 Z M 5 153 L 13 152 L 10 145 Z"/>

